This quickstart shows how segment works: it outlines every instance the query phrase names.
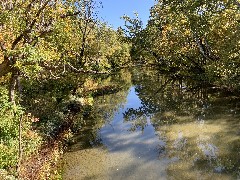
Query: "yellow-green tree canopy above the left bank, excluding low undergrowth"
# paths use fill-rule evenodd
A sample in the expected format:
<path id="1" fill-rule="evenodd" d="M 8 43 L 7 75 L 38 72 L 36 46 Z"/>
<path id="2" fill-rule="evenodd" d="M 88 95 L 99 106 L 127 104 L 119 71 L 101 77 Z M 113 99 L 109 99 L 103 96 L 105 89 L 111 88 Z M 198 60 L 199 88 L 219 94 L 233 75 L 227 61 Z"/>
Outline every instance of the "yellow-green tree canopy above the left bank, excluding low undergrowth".
<path id="1" fill-rule="evenodd" d="M 98 71 L 121 66 L 129 59 L 128 45 L 97 20 L 96 6 L 92 0 L 4 2 L 0 62 L 27 77 L 54 76 L 67 64 Z"/>

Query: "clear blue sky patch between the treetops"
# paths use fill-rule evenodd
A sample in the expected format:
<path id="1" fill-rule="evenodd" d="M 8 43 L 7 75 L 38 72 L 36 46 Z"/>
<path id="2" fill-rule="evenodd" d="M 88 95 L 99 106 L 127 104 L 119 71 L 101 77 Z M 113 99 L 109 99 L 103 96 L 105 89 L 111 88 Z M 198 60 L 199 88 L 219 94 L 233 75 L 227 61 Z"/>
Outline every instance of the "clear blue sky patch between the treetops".
<path id="1" fill-rule="evenodd" d="M 108 22 L 114 29 L 124 26 L 123 15 L 134 17 L 138 12 L 143 25 L 147 24 L 149 9 L 154 5 L 154 0 L 101 0 L 103 8 L 99 9 L 99 17 Z"/>

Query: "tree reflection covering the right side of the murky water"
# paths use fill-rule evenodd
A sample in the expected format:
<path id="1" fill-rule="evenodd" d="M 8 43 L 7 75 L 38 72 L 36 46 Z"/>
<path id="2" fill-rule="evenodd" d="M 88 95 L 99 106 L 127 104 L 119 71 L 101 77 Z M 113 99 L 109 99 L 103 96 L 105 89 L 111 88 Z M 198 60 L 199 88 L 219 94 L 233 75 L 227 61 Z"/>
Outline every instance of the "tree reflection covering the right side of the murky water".
<path id="1" fill-rule="evenodd" d="M 154 126 L 165 142 L 159 158 L 177 159 L 168 167 L 170 178 L 239 178 L 239 97 L 154 70 L 132 77 L 142 105 L 129 108 L 124 119 L 131 131 L 144 131 L 147 121 Z"/>

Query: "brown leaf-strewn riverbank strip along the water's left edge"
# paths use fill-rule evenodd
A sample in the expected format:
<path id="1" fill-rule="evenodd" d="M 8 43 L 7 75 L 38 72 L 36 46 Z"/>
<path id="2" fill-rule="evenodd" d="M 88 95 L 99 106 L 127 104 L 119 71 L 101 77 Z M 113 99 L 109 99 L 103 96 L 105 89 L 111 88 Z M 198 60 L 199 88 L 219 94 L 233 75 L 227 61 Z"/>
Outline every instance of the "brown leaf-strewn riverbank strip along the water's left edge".
<path id="1" fill-rule="evenodd" d="M 85 87 L 83 94 L 86 96 L 89 94 L 92 94 L 92 96 L 103 96 L 104 94 L 116 93 L 120 89 L 122 87 L 118 87 L 116 84 L 98 85 L 91 88 Z M 88 113 L 89 108 L 91 109 L 90 104 L 88 104 L 88 97 L 80 100 L 81 102 L 74 101 L 71 103 L 71 106 L 68 106 L 72 114 L 68 116 L 68 119 L 65 119 L 63 124 L 59 125 L 58 129 L 55 129 L 55 134 L 51 134 L 51 137 L 46 142 L 43 142 L 33 155 L 23 160 L 19 179 L 62 179 L 61 159 L 72 137 L 74 124 L 79 120 L 78 118 Z"/>

